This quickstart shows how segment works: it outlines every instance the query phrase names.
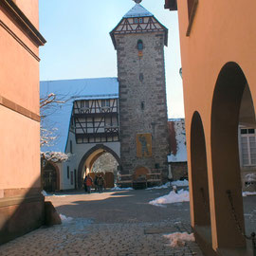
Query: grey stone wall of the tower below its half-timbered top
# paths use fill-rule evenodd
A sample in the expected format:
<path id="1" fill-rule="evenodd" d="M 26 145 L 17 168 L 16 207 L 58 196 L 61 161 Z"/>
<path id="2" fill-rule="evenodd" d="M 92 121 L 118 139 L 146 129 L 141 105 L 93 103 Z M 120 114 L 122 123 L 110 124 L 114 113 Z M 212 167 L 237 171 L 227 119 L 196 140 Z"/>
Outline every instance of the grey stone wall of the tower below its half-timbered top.
<path id="1" fill-rule="evenodd" d="M 116 35 L 121 174 L 133 174 L 137 167 L 150 171 L 156 164 L 167 177 L 164 36 L 164 32 Z M 138 40 L 143 42 L 140 57 Z M 137 134 L 152 135 L 152 156 L 137 157 Z"/>

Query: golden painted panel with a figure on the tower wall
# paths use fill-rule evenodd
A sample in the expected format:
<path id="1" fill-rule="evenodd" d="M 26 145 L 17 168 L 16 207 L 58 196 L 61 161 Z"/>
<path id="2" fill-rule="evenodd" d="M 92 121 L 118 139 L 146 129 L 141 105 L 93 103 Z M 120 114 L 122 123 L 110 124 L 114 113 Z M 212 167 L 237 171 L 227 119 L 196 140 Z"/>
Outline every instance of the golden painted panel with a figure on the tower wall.
<path id="1" fill-rule="evenodd" d="M 137 157 L 152 156 L 152 135 L 137 134 Z"/>

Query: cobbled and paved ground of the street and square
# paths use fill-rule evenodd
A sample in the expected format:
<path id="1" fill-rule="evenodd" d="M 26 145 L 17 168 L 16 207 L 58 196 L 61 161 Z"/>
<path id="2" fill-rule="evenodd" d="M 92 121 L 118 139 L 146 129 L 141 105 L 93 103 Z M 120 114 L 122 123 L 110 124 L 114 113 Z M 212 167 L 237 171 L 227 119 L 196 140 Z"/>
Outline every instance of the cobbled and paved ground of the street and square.
<path id="1" fill-rule="evenodd" d="M 202 256 L 194 242 L 170 247 L 170 241 L 163 237 L 176 231 L 191 232 L 189 203 L 166 208 L 148 204 L 168 192 L 81 192 L 48 196 L 46 200 L 52 201 L 59 213 L 73 219 L 9 242 L 0 247 L 0 255 Z M 251 198 L 245 198 L 248 224 L 256 220 L 255 197 Z"/>

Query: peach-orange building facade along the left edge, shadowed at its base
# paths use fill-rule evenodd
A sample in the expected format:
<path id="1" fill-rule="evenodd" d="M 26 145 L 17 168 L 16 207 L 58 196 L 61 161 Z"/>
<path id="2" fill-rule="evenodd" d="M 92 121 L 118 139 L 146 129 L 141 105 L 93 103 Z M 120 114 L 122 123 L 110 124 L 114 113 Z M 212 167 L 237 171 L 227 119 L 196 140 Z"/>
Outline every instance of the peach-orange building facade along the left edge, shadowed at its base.
<path id="1" fill-rule="evenodd" d="M 44 223 L 37 0 L 0 1 L 0 244 Z"/>

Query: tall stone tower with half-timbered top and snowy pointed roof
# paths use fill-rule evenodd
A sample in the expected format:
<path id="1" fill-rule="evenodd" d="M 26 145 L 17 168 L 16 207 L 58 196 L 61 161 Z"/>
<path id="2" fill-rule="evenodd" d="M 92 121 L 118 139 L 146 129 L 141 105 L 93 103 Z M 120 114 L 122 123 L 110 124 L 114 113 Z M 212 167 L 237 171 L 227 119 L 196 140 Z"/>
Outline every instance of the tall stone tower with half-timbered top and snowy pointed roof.
<path id="1" fill-rule="evenodd" d="M 156 169 L 162 171 L 165 180 L 168 130 L 164 46 L 168 29 L 137 3 L 110 35 L 118 52 L 120 173 L 150 174 Z"/>

